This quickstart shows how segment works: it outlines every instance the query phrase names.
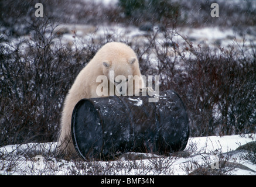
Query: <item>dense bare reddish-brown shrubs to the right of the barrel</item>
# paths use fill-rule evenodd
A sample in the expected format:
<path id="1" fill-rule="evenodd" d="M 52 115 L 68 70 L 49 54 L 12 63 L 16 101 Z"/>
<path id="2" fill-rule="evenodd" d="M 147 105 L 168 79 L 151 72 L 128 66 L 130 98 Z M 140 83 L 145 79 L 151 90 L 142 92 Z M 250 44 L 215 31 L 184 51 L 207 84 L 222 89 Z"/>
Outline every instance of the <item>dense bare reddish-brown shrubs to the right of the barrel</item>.
<path id="1" fill-rule="evenodd" d="M 155 69 L 161 75 L 161 89 L 177 91 L 187 106 L 191 136 L 252 133 L 256 122 L 255 50 L 234 43 L 212 49 L 194 46 L 174 29 L 148 37 L 156 56 Z M 245 54 L 246 53 L 246 54 Z M 152 63 L 146 58 L 144 63 Z M 144 60 L 144 61 L 143 61 Z"/>

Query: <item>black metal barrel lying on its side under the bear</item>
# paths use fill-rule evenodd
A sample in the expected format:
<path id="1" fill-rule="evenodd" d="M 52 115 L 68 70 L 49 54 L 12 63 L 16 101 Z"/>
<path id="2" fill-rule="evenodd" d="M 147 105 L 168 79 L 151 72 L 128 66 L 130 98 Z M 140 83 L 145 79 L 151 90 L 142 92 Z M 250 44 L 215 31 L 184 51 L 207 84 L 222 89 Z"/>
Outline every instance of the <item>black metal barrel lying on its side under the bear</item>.
<path id="1" fill-rule="evenodd" d="M 183 150 L 189 138 L 187 113 L 178 93 L 81 99 L 75 106 L 71 134 L 84 159 L 108 159 L 126 152 L 166 154 Z"/>

